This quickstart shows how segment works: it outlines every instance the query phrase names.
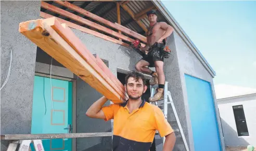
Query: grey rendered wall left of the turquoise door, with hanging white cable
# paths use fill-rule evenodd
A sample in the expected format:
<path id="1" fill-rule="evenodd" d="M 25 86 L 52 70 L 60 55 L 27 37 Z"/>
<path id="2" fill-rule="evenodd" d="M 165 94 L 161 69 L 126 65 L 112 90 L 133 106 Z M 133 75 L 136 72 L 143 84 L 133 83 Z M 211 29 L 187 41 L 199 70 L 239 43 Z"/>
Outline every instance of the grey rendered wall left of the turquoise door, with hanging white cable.
<path id="1" fill-rule="evenodd" d="M 19 33 L 19 23 L 39 18 L 40 1 L 1 1 L 1 86 L 6 79 L 10 48 L 10 77 L 1 90 L 1 134 L 31 130 L 36 45 Z M 12 119 L 12 120 L 10 120 Z M 6 142 L 1 141 L 1 150 Z"/>

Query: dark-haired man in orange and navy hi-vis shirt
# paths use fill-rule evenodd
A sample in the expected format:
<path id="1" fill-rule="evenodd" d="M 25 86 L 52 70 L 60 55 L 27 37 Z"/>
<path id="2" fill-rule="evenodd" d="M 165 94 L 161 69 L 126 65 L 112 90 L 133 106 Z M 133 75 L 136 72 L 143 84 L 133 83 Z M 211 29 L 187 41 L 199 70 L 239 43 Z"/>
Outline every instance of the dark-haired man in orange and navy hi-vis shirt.
<path id="1" fill-rule="evenodd" d="M 142 100 L 146 90 L 144 75 L 131 72 L 125 77 L 127 101 L 103 107 L 108 99 L 102 97 L 88 108 L 88 117 L 106 121 L 113 119 L 113 151 L 148 151 L 156 130 L 161 137 L 165 136 L 163 151 L 173 149 L 176 141 L 174 131 L 158 106 Z"/>

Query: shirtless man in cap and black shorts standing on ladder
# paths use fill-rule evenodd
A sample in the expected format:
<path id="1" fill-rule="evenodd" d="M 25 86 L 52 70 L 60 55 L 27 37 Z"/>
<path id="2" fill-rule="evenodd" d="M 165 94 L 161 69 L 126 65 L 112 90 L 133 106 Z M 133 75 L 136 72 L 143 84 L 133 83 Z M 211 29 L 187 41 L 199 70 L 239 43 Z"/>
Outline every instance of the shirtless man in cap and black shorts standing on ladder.
<path id="1" fill-rule="evenodd" d="M 149 98 L 150 102 L 158 101 L 163 97 L 163 88 L 165 83 L 165 76 L 163 73 L 163 57 L 161 51 L 164 48 L 165 38 L 170 36 L 173 32 L 172 26 L 166 22 L 157 22 L 156 10 L 150 10 L 147 12 L 150 27 L 147 32 L 147 44 L 141 50 L 148 52 L 139 60 L 135 68 L 137 71 L 149 74 L 153 77 L 150 85 L 158 84 L 157 93 Z M 156 72 L 151 71 L 148 67 L 156 68 Z"/>

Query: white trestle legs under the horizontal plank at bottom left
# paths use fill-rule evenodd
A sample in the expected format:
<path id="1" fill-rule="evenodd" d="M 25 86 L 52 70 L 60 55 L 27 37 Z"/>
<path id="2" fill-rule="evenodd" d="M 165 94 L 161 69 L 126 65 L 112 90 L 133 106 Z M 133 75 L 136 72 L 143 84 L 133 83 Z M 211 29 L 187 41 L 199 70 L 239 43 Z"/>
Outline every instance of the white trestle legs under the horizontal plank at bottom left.
<path id="1" fill-rule="evenodd" d="M 19 150 L 18 151 L 29 151 L 29 150 L 31 150 L 30 143 L 34 144 L 34 148 L 35 148 L 36 151 L 44 151 L 42 140 L 18 140 L 18 141 L 12 141 L 9 144 L 9 146 L 7 148 L 7 151 L 15 151 L 18 146 L 19 146 Z"/>

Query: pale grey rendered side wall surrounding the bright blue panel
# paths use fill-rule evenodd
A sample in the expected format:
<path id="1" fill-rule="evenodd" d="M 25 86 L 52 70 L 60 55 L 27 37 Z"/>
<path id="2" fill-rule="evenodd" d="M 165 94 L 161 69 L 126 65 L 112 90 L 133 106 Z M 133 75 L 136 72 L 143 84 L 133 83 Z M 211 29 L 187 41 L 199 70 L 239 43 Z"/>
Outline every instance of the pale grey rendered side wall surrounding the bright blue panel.
<path id="1" fill-rule="evenodd" d="M 215 111 L 216 111 L 216 117 L 219 124 L 219 135 L 221 137 L 221 144 L 222 149 L 225 150 L 224 145 L 224 139 L 222 136 L 222 128 L 221 128 L 221 122 L 220 122 L 220 116 L 219 111 L 217 110 L 217 103 L 216 103 L 216 97 L 214 92 L 214 85 L 213 85 L 213 77 L 208 73 L 206 68 L 203 67 L 203 65 L 199 62 L 199 60 L 196 58 L 195 54 L 188 48 L 188 46 L 184 43 L 182 38 L 174 32 L 174 39 L 175 39 L 175 45 L 176 45 L 176 51 L 178 56 L 178 64 L 180 66 L 181 71 L 181 84 L 183 89 L 183 98 L 184 98 L 184 105 L 185 110 L 183 112 L 186 112 L 186 116 L 181 117 L 183 120 L 187 123 L 187 130 L 185 131 L 186 139 L 189 142 L 190 150 L 194 150 L 194 141 L 193 141 L 193 135 L 191 130 L 191 123 L 190 123 L 190 117 L 189 117 L 189 110 L 188 110 L 188 102 L 187 102 L 187 93 L 186 93 L 186 84 L 185 84 L 185 75 L 188 74 L 191 76 L 195 76 L 197 78 L 206 80 L 210 82 L 213 90 L 213 99 L 214 99 L 214 105 L 215 105 Z M 185 122 L 184 122 L 185 124 Z"/>

